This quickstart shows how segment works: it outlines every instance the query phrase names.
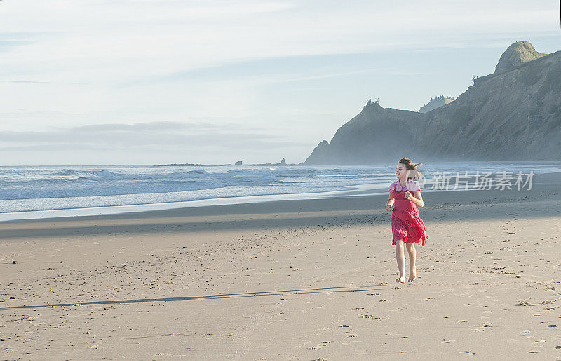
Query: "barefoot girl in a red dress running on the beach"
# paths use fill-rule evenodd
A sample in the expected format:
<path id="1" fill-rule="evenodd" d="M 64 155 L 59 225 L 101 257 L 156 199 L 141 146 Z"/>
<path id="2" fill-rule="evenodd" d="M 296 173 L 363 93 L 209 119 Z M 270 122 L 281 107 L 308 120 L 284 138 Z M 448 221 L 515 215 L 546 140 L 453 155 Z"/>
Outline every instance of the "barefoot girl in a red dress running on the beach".
<path id="1" fill-rule="evenodd" d="M 417 206 L 421 208 L 424 206 L 421 188 L 413 180 L 421 177 L 421 173 L 417 170 L 417 165 L 421 164 L 423 163 L 413 163 L 408 158 L 401 158 L 396 167 L 398 180 L 393 182 L 389 188 L 390 197 L 386 211 L 391 213 L 391 233 L 393 235 L 391 244 L 396 245 L 396 259 L 399 268 L 399 278 L 396 278 L 396 282 L 398 283 L 405 283 L 403 244 L 405 243 L 409 253 L 409 282 L 413 282 L 417 276 L 415 243 L 421 242 L 422 245 L 425 245 L 429 238 L 417 209 Z"/>

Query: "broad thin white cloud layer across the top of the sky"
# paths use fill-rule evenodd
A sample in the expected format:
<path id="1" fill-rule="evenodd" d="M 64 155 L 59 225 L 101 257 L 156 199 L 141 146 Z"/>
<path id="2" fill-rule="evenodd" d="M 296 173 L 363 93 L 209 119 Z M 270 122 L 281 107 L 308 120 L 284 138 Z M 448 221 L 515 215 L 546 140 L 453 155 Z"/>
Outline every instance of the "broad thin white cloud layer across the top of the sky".
<path id="1" fill-rule="evenodd" d="M 111 83 L 257 58 L 456 46 L 474 34 L 558 26 L 548 1 L 36 1 L 3 8 L 5 27 L 44 32 L 11 47 L 2 60 L 8 69 Z"/>

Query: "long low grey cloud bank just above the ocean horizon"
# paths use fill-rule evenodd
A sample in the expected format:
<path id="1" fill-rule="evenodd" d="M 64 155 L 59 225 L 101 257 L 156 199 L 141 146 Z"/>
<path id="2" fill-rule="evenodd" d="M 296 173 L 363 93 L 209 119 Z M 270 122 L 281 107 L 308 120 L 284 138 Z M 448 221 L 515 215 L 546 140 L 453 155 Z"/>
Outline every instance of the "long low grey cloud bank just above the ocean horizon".
<path id="1" fill-rule="evenodd" d="M 0 150 L 100 150 L 142 149 L 274 149 L 307 145 L 283 135 L 255 132 L 238 125 L 224 127 L 210 123 L 151 122 L 136 124 L 84 125 L 53 131 L 0 132 Z"/>

